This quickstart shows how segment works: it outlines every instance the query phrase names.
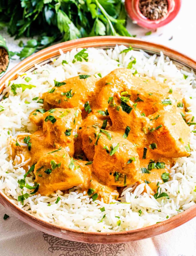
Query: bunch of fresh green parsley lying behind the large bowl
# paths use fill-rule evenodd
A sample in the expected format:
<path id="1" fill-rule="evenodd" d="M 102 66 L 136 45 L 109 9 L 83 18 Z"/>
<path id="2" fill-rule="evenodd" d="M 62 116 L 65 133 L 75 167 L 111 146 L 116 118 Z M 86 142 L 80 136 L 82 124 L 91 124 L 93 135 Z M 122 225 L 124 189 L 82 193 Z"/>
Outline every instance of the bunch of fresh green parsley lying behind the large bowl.
<path id="1" fill-rule="evenodd" d="M 55 41 L 97 35 L 131 36 L 125 28 L 122 0 L 0 0 L 0 27 L 15 39 L 33 37 L 17 54 L 20 59 Z"/>

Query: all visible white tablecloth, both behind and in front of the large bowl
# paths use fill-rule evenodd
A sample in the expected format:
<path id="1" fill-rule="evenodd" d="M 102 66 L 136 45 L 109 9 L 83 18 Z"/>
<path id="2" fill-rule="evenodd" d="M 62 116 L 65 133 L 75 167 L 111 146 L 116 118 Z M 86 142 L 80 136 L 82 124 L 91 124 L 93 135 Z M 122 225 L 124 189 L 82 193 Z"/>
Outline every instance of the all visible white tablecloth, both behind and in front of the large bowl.
<path id="1" fill-rule="evenodd" d="M 149 36 L 146 31 L 128 21 L 132 34 L 144 40 L 164 44 L 196 59 L 195 28 L 196 1 L 182 0 L 181 11 L 168 25 L 159 28 Z M 17 43 L 5 30 L 0 31 L 6 38 L 11 51 L 18 50 Z M 172 37 L 171 40 L 169 40 Z M 26 39 L 22 39 L 24 42 Z M 19 61 L 13 60 L 9 69 Z M 10 217 L 3 220 L 4 214 Z M 0 205 L 0 256 L 193 256 L 196 255 L 196 219 L 165 234 L 142 241 L 126 244 L 84 244 L 70 242 L 44 234 L 18 220 Z"/>

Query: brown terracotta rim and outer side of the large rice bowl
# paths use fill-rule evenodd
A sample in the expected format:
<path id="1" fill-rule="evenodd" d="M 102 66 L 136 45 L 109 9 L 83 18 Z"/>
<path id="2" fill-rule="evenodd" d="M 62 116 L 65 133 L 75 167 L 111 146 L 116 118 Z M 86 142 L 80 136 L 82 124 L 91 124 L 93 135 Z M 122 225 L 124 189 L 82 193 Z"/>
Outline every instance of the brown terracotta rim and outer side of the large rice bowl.
<path id="1" fill-rule="evenodd" d="M 13 69 L 11 69 L 7 74 L 3 76 L 3 78 L 0 80 L 0 93 L 4 88 L 5 81 L 16 79 L 18 77 L 18 72 L 26 72 L 27 70 L 33 71 L 34 64 L 43 65 L 45 63 L 49 63 L 50 58 L 54 58 L 60 55 L 59 49 L 61 49 L 63 52 L 67 52 L 72 50 L 73 48 L 79 47 L 96 47 L 107 49 L 114 48 L 116 44 L 124 44 L 125 46 L 131 45 L 134 48 L 134 50 L 142 49 L 145 50 L 148 54 L 159 55 L 160 51 L 163 51 L 163 53 L 166 56 L 169 56 L 169 58 L 174 62 L 174 64 L 179 69 L 193 69 L 194 72 L 196 72 L 196 62 L 194 60 L 192 60 L 186 55 L 183 55 L 175 50 L 169 49 L 163 45 L 158 45 L 123 36 L 99 36 L 76 39 L 56 44 L 31 55 L 30 57 L 21 61 L 18 65 L 16 65 Z M 188 210 L 176 215 L 175 217 L 172 217 L 166 221 L 148 227 L 130 231 L 100 233 L 68 229 L 40 220 L 37 217 L 31 215 L 30 213 L 24 211 L 19 206 L 17 206 L 13 202 L 13 200 L 6 196 L 1 190 L 0 203 L 20 220 L 24 221 L 25 223 L 42 232 L 63 239 L 85 243 L 125 243 L 139 239 L 144 239 L 169 231 L 191 220 L 193 217 L 196 216 L 196 205 L 194 205 Z"/>

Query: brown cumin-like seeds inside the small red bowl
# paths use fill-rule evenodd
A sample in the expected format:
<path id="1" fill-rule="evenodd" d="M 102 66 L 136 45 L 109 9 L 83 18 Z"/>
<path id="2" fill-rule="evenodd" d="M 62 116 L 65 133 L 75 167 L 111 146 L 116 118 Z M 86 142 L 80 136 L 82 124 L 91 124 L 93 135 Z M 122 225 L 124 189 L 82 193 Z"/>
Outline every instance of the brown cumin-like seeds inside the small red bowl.
<path id="1" fill-rule="evenodd" d="M 139 8 L 147 19 L 158 20 L 168 14 L 167 0 L 140 0 Z"/>

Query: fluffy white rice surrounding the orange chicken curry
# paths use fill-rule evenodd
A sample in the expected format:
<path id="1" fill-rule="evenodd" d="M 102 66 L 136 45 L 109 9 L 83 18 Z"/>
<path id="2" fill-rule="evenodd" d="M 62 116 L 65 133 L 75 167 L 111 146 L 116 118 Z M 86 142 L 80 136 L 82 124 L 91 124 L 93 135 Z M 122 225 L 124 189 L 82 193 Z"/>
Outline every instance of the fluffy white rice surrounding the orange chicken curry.
<path id="1" fill-rule="evenodd" d="M 127 67 L 130 58 L 136 58 L 136 64 L 133 65 L 132 69 L 133 73 L 136 69 L 137 75 L 153 77 L 162 82 L 167 79 L 168 85 L 171 88 L 181 90 L 186 99 L 186 107 L 189 110 L 186 113 L 187 121 L 190 121 L 192 116 L 196 117 L 196 90 L 194 89 L 196 81 L 193 72 L 178 70 L 168 57 L 164 58 L 163 53 L 160 53 L 160 56 L 149 56 L 143 51 L 131 50 L 120 54 L 123 49 L 126 49 L 123 45 L 106 51 L 88 48 L 88 62 L 76 61 L 74 64 L 72 63 L 74 55 L 82 48 L 73 49 L 66 54 L 60 50 L 60 57 L 57 60 L 53 59 L 51 65 L 35 65 L 36 72 L 19 74 L 20 76 L 14 81 L 18 84 L 32 84 L 36 86 L 35 88 L 26 89 L 24 92 L 21 88 L 17 88 L 17 95 L 14 96 L 13 92 L 10 91 L 13 81 L 9 85 L 7 83 L 3 95 L 8 92 L 9 96 L 0 102 L 0 111 L 4 109 L 0 112 L 0 189 L 12 198 L 10 200 L 32 215 L 67 228 L 114 232 L 137 229 L 164 221 L 195 204 L 195 133 L 190 133 L 191 155 L 176 159 L 175 165 L 170 170 L 172 180 L 160 184 L 162 192 L 166 192 L 169 199 L 162 197 L 156 200 L 150 195 L 148 185 L 140 184 L 135 190 L 135 185 L 128 186 L 123 191 L 121 202 L 113 200 L 109 204 L 99 200 L 92 202 L 92 198 L 89 198 L 86 192 L 83 194 L 76 194 L 75 192 L 63 194 L 61 191 L 57 191 L 51 196 L 32 195 L 24 201 L 24 205 L 17 201 L 22 191 L 24 194 L 31 192 L 26 188 L 20 189 L 17 182 L 24 178 L 25 170 L 21 165 L 27 159 L 21 155 L 15 159 L 15 162 L 10 160 L 8 138 L 19 133 L 36 131 L 37 127 L 29 121 L 29 114 L 43 105 L 32 99 L 34 97 L 41 98 L 43 92 L 54 86 L 54 80 L 62 81 L 81 73 L 97 77 L 97 74 L 100 73 L 103 77 L 118 67 Z M 62 60 L 66 60 L 68 64 L 62 65 Z M 183 74 L 188 76 L 187 79 L 184 78 Z M 25 77 L 30 77 L 31 81 L 27 83 L 24 80 Z M 194 126 L 190 126 L 190 131 L 193 129 Z M 10 131 L 10 135 L 8 135 L 8 131 Z M 22 164 L 20 159 L 22 159 Z M 32 177 L 26 177 L 26 182 L 33 186 Z M 147 192 L 143 193 L 145 187 Z M 132 192 L 133 190 L 134 192 Z M 58 196 L 61 199 L 56 204 Z M 51 205 L 48 206 L 48 203 Z M 101 207 L 105 207 L 105 211 L 101 212 Z M 103 218 L 104 215 L 105 218 Z"/>

